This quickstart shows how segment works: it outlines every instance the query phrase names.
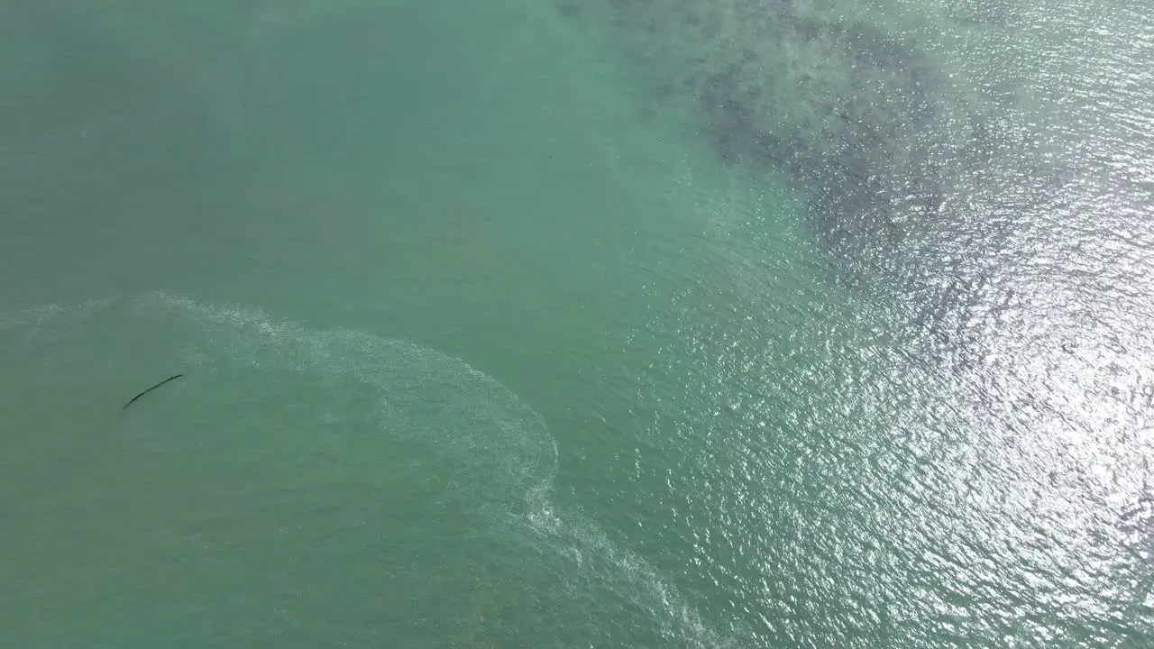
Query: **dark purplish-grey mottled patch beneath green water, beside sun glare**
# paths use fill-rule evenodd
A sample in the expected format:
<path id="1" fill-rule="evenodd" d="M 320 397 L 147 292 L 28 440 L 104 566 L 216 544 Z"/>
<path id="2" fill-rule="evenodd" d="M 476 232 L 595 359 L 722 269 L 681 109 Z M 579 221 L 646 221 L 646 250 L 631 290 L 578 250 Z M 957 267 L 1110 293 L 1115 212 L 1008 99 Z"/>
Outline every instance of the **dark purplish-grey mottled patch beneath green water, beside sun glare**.
<path id="1" fill-rule="evenodd" d="M 1014 174 L 996 167 L 1022 161 L 1006 156 L 998 98 L 931 51 L 917 16 L 834 0 L 606 1 L 647 103 L 688 109 L 726 162 L 784 172 L 846 281 L 899 292 L 912 324 L 957 337 L 989 273 L 942 267 L 1009 236 L 1005 201 L 972 227 L 973 197 L 1004 194 L 995 185 Z M 967 21 L 1003 20 L 995 5 Z"/>

